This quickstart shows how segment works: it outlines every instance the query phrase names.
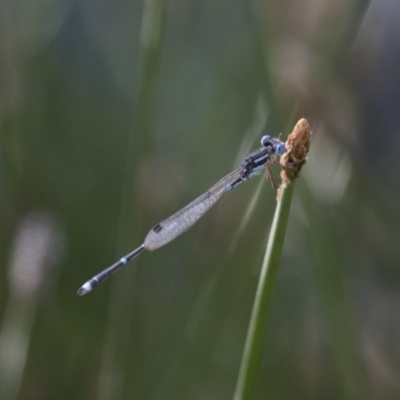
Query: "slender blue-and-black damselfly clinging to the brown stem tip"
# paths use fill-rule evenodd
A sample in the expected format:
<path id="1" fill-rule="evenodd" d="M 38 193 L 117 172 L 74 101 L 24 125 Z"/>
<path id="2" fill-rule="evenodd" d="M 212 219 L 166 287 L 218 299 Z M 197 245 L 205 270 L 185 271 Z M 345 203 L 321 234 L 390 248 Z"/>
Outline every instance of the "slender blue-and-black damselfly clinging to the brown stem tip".
<path id="1" fill-rule="evenodd" d="M 258 175 L 265 168 L 268 180 L 274 184 L 270 166 L 279 164 L 279 157 L 286 151 L 285 145 L 279 139 L 265 135 L 261 138 L 262 148 L 249 154 L 242 162 L 241 166 L 226 175 L 214 186 L 193 200 L 186 207 L 182 208 L 166 220 L 157 224 L 146 236 L 144 242 L 137 249 L 122 257 L 115 264 L 106 268 L 92 279 L 88 280 L 78 290 L 78 295 L 93 290 L 114 272 L 127 264 L 132 258 L 139 255 L 144 250 L 153 251 L 171 242 L 183 232 L 194 225 L 221 197 L 224 193 L 234 189 L 236 186 L 247 181 L 247 179 Z"/>

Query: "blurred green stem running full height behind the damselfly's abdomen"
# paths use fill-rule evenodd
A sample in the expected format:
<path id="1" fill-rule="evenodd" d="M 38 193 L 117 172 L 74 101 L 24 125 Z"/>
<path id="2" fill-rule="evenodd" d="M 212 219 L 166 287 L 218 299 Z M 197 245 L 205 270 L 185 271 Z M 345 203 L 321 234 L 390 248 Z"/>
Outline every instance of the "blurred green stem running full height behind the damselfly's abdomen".
<path id="1" fill-rule="evenodd" d="M 145 0 L 140 32 L 140 81 L 134 113 L 134 126 L 127 143 L 126 167 L 120 208 L 118 255 L 127 250 L 132 238 L 139 241 L 141 219 L 137 171 L 151 148 L 151 121 L 154 119 L 154 95 L 161 53 L 165 1 Z M 132 210 L 135 221 L 132 222 Z M 98 397 L 102 400 L 124 398 L 130 392 L 130 358 L 126 349 L 132 339 L 133 297 L 127 298 L 134 278 L 134 268 L 122 279 L 113 280 Z"/>

